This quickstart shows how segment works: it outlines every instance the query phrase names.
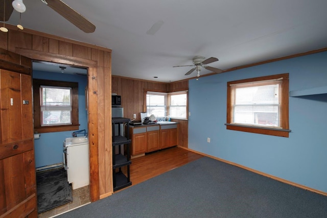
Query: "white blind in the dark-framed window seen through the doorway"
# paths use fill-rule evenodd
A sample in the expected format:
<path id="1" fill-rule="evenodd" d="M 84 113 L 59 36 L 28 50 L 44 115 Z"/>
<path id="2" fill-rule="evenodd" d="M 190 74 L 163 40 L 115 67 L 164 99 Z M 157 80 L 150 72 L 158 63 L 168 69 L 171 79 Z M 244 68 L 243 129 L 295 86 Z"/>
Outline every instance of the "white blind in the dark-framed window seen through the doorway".
<path id="1" fill-rule="evenodd" d="M 41 126 L 72 125 L 72 88 L 40 86 Z"/>

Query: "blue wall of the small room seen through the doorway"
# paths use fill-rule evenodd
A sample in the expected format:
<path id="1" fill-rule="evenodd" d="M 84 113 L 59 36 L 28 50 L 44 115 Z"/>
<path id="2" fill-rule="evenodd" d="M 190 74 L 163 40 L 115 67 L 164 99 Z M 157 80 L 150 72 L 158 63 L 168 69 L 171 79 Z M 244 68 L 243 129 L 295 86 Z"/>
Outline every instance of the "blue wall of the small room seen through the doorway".
<path id="1" fill-rule="evenodd" d="M 86 76 L 58 74 L 35 70 L 33 71 L 33 79 L 78 82 L 79 129 L 85 129 L 86 132 L 88 132 L 87 111 L 85 109 L 85 87 L 87 86 Z M 65 138 L 72 137 L 72 132 L 74 131 L 40 133 L 40 139 L 34 140 L 36 167 L 61 163 L 63 160 L 63 140 L 65 140 Z"/>

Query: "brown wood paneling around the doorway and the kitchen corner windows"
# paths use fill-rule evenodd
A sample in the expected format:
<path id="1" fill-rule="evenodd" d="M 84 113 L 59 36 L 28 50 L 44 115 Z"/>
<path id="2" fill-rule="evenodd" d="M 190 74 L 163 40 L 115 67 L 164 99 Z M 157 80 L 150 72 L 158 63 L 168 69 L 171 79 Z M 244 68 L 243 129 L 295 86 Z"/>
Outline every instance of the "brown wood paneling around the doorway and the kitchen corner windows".
<path id="1" fill-rule="evenodd" d="M 124 116 L 141 119 L 144 90 L 178 91 L 188 89 L 188 81 L 159 83 L 123 77 L 111 78 L 111 50 L 29 29 L 17 31 L 6 25 L 0 32 L 0 47 L 34 60 L 88 67 L 88 129 L 90 146 L 91 201 L 109 196 L 112 187 L 111 91 L 122 95 Z M 187 121 L 178 120 L 180 146 L 187 147 Z"/>

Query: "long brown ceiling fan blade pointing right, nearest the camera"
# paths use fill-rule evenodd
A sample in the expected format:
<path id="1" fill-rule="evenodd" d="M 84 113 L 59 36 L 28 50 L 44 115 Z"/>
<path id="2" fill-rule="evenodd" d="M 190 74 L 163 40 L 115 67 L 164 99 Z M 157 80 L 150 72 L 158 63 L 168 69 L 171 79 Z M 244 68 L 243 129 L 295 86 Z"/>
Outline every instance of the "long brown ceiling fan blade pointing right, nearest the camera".
<path id="1" fill-rule="evenodd" d="M 46 2 L 50 8 L 56 11 L 58 14 L 66 18 L 69 22 L 73 23 L 80 30 L 85 33 L 93 33 L 96 30 L 96 26 L 94 26 L 90 21 L 88 21 L 85 17 L 79 14 L 77 11 L 66 5 L 60 0 L 41 0 L 42 2 Z"/>

